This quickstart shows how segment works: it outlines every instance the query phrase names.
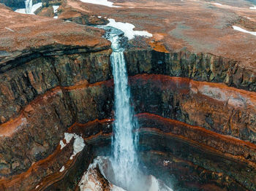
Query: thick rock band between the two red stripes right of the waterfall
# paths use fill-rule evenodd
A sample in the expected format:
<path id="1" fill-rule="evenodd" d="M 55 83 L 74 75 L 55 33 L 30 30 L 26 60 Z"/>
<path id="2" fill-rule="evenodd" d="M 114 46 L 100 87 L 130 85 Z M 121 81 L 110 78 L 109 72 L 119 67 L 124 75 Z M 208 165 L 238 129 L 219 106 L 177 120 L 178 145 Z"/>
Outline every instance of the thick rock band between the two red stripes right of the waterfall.
<path id="1" fill-rule="evenodd" d="M 255 93 L 162 75 L 138 76 L 131 84 L 138 112 L 159 114 L 255 143 Z"/>

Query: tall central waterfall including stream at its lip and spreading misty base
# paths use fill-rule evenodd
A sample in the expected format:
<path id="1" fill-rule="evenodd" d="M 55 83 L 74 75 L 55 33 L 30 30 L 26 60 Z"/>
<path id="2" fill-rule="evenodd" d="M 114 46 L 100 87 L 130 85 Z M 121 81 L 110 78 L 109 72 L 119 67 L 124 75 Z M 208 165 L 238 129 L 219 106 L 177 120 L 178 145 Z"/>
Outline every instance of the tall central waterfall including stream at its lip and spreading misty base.
<path id="1" fill-rule="evenodd" d="M 115 85 L 115 122 L 112 139 L 112 168 L 101 170 L 112 184 L 127 191 L 173 191 L 154 176 L 146 176 L 139 169 L 138 122 L 130 106 L 130 90 L 124 59 L 124 32 L 110 26 L 98 26 L 106 31 L 105 37 L 112 42 L 110 61 Z M 99 164 L 100 165 L 100 164 Z M 101 164 L 102 165 L 102 164 Z M 108 165 L 107 165 L 108 166 Z M 103 168 L 102 168 L 103 169 Z"/>

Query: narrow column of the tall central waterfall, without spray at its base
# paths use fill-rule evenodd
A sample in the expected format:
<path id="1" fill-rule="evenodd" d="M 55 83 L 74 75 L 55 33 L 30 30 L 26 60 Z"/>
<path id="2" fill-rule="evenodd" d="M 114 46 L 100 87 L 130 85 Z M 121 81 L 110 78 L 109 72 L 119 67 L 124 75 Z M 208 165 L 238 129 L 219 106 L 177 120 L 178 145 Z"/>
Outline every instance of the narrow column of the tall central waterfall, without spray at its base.
<path id="1" fill-rule="evenodd" d="M 130 91 L 124 50 L 119 46 L 120 37 L 110 34 L 113 53 L 110 61 L 115 85 L 115 122 L 112 139 L 113 171 L 115 182 L 126 190 L 137 190 L 138 158 L 136 155 L 137 135 L 134 133 L 137 122 L 130 106 Z"/>

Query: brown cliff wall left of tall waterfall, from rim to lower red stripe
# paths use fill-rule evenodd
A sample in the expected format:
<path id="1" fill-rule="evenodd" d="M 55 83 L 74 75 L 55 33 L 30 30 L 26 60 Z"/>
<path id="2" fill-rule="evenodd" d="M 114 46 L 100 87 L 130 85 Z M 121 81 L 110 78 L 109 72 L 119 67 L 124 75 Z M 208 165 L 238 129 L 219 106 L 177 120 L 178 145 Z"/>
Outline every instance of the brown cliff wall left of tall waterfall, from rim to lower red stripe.
<path id="1" fill-rule="evenodd" d="M 37 58 L 2 74 L 12 79 L 1 83 L 1 119 L 13 119 L 1 125 L 2 175 L 50 155 L 74 122 L 110 117 L 112 90 L 97 84 L 110 79 L 109 66 L 109 53 L 97 52 Z"/>

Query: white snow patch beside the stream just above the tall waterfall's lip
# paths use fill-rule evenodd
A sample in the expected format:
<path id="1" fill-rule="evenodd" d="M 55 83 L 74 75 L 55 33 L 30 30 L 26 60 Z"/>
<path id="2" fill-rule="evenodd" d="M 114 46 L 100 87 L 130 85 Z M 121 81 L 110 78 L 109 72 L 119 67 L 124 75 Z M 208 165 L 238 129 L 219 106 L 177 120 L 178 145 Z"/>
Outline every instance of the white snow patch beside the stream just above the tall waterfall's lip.
<path id="1" fill-rule="evenodd" d="M 114 19 L 108 19 L 110 23 L 107 26 L 112 26 L 114 28 L 118 28 L 124 32 L 124 36 L 127 36 L 128 39 L 133 39 L 135 36 L 146 36 L 152 37 L 153 35 L 148 33 L 148 31 L 134 31 L 134 25 L 131 23 L 121 23 L 116 22 Z"/>

